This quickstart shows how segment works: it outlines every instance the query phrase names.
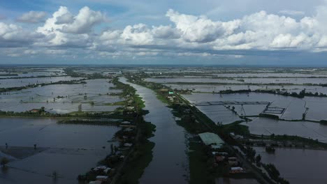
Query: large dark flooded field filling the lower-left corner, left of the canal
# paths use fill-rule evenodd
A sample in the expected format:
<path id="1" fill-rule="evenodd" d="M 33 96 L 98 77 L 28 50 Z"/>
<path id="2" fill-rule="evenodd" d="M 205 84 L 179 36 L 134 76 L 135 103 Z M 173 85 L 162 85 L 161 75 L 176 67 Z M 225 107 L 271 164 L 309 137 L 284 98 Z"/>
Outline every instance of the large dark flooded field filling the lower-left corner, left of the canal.
<path id="1" fill-rule="evenodd" d="M 20 150 L 13 152 L 17 158 L 8 170 L 0 171 L 1 184 L 78 183 L 78 174 L 95 167 L 110 153 L 110 144 L 117 144 L 111 140 L 118 127 L 56 122 L 55 118 L 0 118 L 1 148 L 8 143 L 9 150 Z M 26 155 L 34 144 L 38 149 Z M 58 173 L 57 181 L 50 177 L 53 171 Z"/>

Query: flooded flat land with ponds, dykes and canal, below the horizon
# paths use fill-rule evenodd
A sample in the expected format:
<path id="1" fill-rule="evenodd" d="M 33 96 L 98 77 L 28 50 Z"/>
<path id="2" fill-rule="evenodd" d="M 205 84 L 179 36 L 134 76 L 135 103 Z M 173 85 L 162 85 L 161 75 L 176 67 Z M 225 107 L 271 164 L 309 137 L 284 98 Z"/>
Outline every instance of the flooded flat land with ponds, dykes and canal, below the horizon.
<path id="1" fill-rule="evenodd" d="M 0 183 L 88 183 L 98 164 L 112 183 L 326 183 L 326 86 L 326 68 L 3 67 Z"/>

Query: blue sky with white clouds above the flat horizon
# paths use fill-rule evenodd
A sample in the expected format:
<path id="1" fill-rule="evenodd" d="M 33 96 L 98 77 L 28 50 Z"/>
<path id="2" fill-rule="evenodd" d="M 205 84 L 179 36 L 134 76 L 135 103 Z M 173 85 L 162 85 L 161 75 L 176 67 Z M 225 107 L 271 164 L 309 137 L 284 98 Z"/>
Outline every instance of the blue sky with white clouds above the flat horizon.
<path id="1" fill-rule="evenodd" d="M 325 0 L 0 0 L 0 64 L 326 60 Z"/>

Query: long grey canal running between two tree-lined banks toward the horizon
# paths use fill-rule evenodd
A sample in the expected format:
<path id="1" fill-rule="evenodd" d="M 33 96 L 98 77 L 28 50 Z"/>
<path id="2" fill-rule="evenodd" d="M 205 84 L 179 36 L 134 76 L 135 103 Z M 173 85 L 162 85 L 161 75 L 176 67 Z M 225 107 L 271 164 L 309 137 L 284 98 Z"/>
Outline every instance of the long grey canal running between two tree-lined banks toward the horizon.
<path id="1" fill-rule="evenodd" d="M 133 86 L 145 101 L 145 121 L 156 125 L 156 132 L 150 141 L 155 143 L 153 158 L 145 169 L 140 183 L 188 183 L 188 158 L 184 128 L 177 125 L 166 104 L 157 99 L 156 94 L 143 86 L 126 82 Z"/>

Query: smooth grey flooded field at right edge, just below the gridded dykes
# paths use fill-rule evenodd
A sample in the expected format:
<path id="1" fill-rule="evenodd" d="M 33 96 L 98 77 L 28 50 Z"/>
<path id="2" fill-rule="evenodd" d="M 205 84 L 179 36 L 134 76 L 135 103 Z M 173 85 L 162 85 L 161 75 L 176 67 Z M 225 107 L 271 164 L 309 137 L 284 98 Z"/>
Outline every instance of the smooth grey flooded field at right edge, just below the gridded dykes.
<path id="1" fill-rule="evenodd" d="M 318 139 L 327 142 L 327 125 L 309 121 L 280 121 L 271 118 L 254 118 L 242 123 L 247 125 L 254 135 L 297 135 L 299 137 Z"/>

